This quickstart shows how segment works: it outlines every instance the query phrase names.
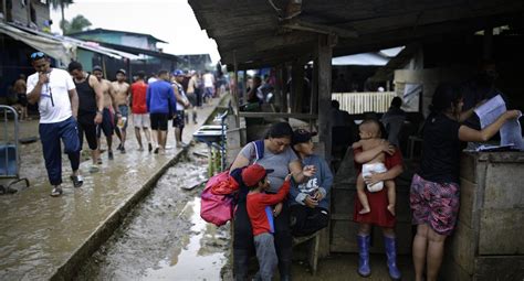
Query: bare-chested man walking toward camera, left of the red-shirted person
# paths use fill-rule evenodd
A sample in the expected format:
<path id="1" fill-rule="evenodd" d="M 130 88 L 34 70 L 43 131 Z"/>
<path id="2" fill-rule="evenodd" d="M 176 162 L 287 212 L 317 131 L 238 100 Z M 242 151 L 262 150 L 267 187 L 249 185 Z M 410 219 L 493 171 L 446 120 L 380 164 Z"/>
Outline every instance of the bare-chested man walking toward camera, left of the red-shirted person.
<path id="1" fill-rule="evenodd" d="M 120 114 L 118 117 L 122 116 L 122 121 L 124 125 L 120 128 L 116 128 L 116 134 L 120 138 L 120 145 L 118 145 L 118 150 L 124 154 L 126 153 L 125 143 L 126 143 L 126 129 L 127 129 L 127 119 L 129 115 L 129 95 L 130 95 L 130 86 L 126 83 L 126 71 L 118 69 L 116 72 L 116 80 L 111 84 L 113 86 L 113 93 L 115 97 L 115 106 Z"/>

